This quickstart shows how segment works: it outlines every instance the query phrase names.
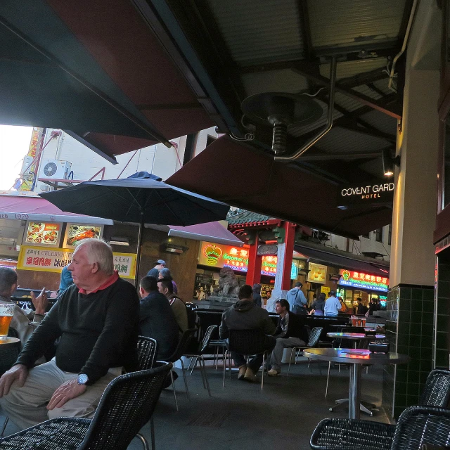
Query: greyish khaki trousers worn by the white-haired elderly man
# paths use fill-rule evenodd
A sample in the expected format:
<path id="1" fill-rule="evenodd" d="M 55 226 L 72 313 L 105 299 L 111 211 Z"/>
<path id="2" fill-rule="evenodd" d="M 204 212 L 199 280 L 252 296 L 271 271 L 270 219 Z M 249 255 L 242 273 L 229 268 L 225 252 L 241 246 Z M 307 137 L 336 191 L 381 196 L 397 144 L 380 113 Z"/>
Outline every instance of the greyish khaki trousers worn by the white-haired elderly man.
<path id="1" fill-rule="evenodd" d="M 86 386 L 84 394 L 69 400 L 61 408 L 47 411 L 46 405 L 53 392 L 78 376 L 77 373 L 61 371 L 52 359 L 32 368 L 23 387 L 17 387 L 14 383 L 8 395 L 1 397 L 0 406 L 20 430 L 56 417 L 91 418 L 106 386 L 121 373 L 122 368 L 110 368 L 94 385 Z"/>

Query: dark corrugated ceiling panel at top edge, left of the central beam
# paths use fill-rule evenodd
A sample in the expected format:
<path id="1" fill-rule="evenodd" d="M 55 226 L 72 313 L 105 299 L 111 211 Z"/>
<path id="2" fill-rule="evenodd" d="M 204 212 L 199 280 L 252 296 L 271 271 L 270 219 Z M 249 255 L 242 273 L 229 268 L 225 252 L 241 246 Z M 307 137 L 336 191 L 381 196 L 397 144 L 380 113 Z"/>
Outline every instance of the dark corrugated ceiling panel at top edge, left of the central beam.
<path id="1" fill-rule="evenodd" d="M 238 65 L 303 58 L 296 0 L 209 0 L 209 4 Z"/>

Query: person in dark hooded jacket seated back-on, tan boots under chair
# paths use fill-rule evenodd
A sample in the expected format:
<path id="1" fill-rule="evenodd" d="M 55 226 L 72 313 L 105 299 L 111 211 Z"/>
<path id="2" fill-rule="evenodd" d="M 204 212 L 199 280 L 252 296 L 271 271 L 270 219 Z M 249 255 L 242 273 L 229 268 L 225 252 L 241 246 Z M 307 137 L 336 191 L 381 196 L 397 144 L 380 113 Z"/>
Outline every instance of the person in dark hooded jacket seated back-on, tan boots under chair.
<path id="1" fill-rule="evenodd" d="M 229 307 L 222 314 L 220 326 L 220 338 L 229 338 L 231 330 L 261 330 L 266 334 L 264 338 L 264 348 L 271 350 L 274 348 L 275 340 L 272 336 L 275 332 L 275 325 L 269 317 L 269 313 L 257 307 L 252 299 L 252 286 L 245 284 L 241 286 L 238 294 L 239 300 L 232 307 Z M 257 354 L 245 364 L 243 354 L 231 352 L 234 364 L 238 366 L 238 380 L 256 381 L 256 374 L 262 364 L 262 354 Z"/>

